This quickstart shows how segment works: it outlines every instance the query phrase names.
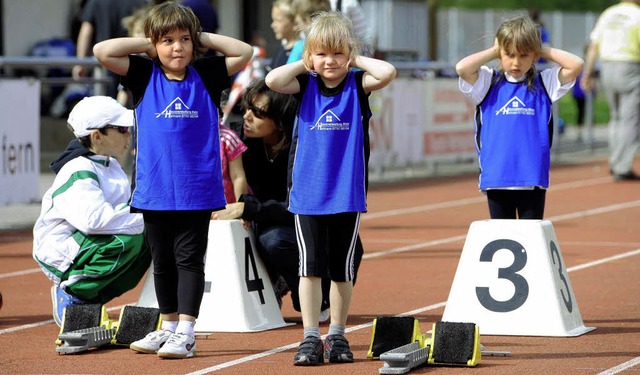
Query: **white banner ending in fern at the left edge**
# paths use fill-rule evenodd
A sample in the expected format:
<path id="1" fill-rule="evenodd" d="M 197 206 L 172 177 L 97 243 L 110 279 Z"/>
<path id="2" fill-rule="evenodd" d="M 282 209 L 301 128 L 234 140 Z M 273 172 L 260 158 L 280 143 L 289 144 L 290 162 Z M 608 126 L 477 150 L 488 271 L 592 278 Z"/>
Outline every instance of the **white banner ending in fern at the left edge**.
<path id="1" fill-rule="evenodd" d="M 0 205 L 40 200 L 40 81 L 0 79 Z"/>

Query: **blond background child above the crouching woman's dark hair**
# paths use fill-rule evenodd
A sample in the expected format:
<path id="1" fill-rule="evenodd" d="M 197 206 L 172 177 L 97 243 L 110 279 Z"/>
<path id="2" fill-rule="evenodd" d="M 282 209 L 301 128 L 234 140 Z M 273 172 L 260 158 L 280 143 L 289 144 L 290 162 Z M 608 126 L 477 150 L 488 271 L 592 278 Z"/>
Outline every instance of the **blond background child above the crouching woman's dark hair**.
<path id="1" fill-rule="evenodd" d="M 268 70 L 287 63 L 293 45 L 300 39 L 296 29 L 296 17 L 291 0 L 276 0 L 271 7 L 271 30 L 280 45 L 276 49 Z"/>

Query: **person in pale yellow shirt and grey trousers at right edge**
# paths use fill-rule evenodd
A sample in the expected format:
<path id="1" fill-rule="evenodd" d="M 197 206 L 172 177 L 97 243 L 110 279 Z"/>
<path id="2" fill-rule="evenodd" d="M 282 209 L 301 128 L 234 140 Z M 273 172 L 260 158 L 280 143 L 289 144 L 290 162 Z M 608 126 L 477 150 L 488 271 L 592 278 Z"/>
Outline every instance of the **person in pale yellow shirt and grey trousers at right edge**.
<path id="1" fill-rule="evenodd" d="M 602 89 L 609 104 L 609 169 L 616 181 L 640 180 L 633 159 L 640 147 L 640 0 L 607 8 L 590 35 L 580 85 L 595 85 L 600 59 Z"/>

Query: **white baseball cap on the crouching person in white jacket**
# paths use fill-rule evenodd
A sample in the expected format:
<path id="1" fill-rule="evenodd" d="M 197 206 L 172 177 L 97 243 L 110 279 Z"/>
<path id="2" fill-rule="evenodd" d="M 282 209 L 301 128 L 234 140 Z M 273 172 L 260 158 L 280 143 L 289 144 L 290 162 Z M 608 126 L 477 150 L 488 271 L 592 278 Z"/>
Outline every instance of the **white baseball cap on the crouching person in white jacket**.
<path id="1" fill-rule="evenodd" d="M 67 122 L 73 134 L 82 138 L 107 125 L 133 126 L 133 111 L 110 96 L 88 96 L 73 107 Z"/>

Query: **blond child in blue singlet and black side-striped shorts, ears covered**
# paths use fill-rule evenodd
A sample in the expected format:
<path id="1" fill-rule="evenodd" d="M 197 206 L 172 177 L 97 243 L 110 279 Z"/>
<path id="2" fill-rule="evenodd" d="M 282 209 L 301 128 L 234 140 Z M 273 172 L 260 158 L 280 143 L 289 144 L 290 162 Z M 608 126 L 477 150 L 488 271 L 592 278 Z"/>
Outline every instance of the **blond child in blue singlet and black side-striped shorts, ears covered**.
<path id="1" fill-rule="evenodd" d="M 358 55 L 351 21 L 340 13 L 317 14 L 305 35 L 302 60 L 266 77 L 272 90 L 296 94 L 301 103 L 288 197 L 300 249 L 304 339 L 294 357 L 298 366 L 319 365 L 325 358 L 353 362 L 344 334 L 360 215 L 367 210 L 368 95 L 396 75 L 393 65 Z M 326 275 L 331 278 L 331 324 L 323 343 L 318 319 Z"/>

